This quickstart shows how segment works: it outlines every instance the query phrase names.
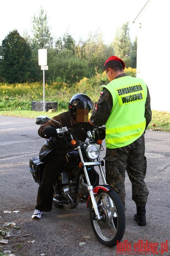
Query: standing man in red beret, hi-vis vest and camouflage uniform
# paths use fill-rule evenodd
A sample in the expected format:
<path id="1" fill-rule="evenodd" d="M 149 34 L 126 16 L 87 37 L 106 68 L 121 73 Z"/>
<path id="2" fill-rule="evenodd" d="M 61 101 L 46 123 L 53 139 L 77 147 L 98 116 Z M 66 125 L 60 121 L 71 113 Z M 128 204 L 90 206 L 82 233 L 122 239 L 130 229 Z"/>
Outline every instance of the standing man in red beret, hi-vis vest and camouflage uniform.
<path id="1" fill-rule="evenodd" d="M 109 84 L 102 87 L 89 122 L 106 128 L 106 180 L 113 186 L 125 207 L 125 171 L 132 183 L 136 203 L 134 219 L 146 225 L 149 191 L 144 182 L 147 162 L 144 156 L 144 131 L 151 121 L 150 94 L 142 79 L 124 73 L 125 63 L 111 56 L 104 65 Z"/>

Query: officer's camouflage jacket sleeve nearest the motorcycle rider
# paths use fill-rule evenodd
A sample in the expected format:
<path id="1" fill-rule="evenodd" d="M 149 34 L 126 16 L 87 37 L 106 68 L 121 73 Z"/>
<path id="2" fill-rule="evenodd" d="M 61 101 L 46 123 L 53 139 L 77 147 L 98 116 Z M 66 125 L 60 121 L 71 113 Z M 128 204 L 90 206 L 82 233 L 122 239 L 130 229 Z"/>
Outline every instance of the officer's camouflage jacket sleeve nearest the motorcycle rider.
<path id="1" fill-rule="evenodd" d="M 96 126 L 105 125 L 107 122 L 113 106 L 113 99 L 111 93 L 106 89 L 100 93 L 100 98 L 97 103 L 95 103 L 95 109 L 91 114 L 90 121 Z"/>

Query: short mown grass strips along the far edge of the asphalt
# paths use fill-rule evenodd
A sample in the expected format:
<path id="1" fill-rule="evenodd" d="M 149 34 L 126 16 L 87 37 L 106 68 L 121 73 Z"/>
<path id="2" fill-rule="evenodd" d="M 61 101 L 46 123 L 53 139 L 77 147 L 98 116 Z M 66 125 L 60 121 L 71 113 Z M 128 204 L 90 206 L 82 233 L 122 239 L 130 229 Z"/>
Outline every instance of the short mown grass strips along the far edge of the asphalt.
<path id="1" fill-rule="evenodd" d="M 15 110 L 15 111 L 0 111 L 0 115 L 3 116 L 19 116 L 35 118 L 36 116 L 46 115 L 52 118 L 53 116 L 62 113 L 62 111 L 56 111 L 53 113 L 48 112 L 38 112 L 38 111 L 26 111 L 26 110 Z M 147 127 L 147 130 L 152 131 L 167 131 L 170 132 L 170 112 L 163 111 L 152 111 L 152 120 Z"/>

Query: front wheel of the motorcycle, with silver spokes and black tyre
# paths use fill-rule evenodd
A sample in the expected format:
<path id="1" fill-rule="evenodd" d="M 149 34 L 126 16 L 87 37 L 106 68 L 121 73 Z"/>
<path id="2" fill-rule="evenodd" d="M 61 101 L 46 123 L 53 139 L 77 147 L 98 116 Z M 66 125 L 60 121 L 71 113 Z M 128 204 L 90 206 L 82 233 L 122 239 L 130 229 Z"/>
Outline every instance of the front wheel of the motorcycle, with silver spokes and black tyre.
<path id="1" fill-rule="evenodd" d="M 114 190 L 100 189 L 96 195 L 96 203 L 102 218 L 94 218 L 91 202 L 90 217 L 94 234 L 101 244 L 108 247 L 116 246 L 125 233 L 125 210 L 122 202 Z"/>

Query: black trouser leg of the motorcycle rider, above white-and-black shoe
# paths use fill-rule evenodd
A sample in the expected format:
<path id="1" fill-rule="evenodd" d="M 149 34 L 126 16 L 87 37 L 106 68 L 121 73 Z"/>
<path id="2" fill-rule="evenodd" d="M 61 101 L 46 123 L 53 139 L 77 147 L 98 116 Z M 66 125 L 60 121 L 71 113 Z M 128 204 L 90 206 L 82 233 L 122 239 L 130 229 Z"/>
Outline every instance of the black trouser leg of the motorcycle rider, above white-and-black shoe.
<path id="1" fill-rule="evenodd" d="M 65 154 L 58 155 L 57 150 L 55 150 L 48 159 L 43 172 L 41 184 L 38 188 L 37 204 L 35 209 L 42 212 L 51 211 L 54 195 L 53 184 L 55 183 L 57 174 L 60 172 L 61 167 L 65 162 Z"/>

